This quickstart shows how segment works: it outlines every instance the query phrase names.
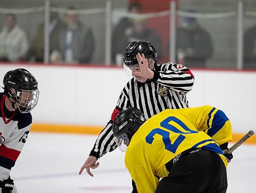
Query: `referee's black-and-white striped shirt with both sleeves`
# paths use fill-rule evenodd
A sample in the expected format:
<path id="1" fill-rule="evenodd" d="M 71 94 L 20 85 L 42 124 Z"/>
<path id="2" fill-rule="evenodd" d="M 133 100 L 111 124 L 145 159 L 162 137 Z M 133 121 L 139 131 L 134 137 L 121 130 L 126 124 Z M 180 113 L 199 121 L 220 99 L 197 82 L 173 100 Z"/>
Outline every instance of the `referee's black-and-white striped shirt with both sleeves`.
<path id="1" fill-rule="evenodd" d="M 154 77 L 146 83 L 133 77 L 121 91 L 111 120 L 98 136 L 90 156 L 100 158 L 117 147 L 113 140 L 112 123 L 120 111 L 135 107 L 149 119 L 165 109 L 188 108 L 186 93 L 193 84 L 194 76 L 188 68 L 170 62 L 155 65 Z"/>

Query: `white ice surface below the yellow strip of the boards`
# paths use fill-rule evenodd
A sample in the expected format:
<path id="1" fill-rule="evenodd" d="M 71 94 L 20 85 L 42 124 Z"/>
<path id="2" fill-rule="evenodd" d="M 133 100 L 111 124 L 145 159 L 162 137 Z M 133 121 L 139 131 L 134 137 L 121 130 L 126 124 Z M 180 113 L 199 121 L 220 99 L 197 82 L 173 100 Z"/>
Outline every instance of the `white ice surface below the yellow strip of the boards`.
<path id="1" fill-rule="evenodd" d="M 86 171 L 78 175 L 96 138 L 30 133 L 11 171 L 18 193 L 130 193 L 131 177 L 119 149 L 99 159 L 93 178 Z M 255 193 L 256 145 L 242 145 L 233 156 L 227 168 L 227 192 Z"/>

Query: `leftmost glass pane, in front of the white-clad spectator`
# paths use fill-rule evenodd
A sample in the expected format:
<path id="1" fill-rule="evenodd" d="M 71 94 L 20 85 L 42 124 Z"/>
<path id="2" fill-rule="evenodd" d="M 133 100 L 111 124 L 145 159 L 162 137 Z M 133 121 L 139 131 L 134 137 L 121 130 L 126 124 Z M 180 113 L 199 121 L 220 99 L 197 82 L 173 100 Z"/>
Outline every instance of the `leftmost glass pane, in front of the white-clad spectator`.
<path id="1" fill-rule="evenodd" d="M 0 4 L 0 60 L 42 61 L 44 1 L 1 0 Z"/>

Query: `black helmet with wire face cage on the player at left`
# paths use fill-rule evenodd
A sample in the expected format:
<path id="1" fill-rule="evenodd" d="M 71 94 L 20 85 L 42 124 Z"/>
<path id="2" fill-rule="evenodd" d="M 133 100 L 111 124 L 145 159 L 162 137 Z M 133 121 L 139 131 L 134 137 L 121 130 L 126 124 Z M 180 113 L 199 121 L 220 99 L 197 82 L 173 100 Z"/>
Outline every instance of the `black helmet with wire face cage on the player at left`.
<path id="1" fill-rule="evenodd" d="M 4 93 L 14 99 L 20 113 L 29 113 L 37 104 L 38 83 L 26 69 L 15 69 L 4 76 Z"/>

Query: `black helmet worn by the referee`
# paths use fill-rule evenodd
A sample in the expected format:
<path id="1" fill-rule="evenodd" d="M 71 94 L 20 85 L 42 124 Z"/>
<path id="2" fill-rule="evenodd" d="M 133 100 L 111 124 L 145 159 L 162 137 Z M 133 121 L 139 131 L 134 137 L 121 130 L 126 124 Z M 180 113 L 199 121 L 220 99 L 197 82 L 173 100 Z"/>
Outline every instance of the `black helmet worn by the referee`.
<path id="1" fill-rule="evenodd" d="M 123 55 L 123 63 L 126 67 L 138 66 L 136 55 L 144 54 L 145 58 L 153 59 L 157 63 L 157 51 L 148 41 L 133 41 L 129 44 Z"/>

